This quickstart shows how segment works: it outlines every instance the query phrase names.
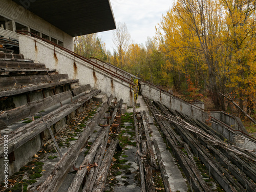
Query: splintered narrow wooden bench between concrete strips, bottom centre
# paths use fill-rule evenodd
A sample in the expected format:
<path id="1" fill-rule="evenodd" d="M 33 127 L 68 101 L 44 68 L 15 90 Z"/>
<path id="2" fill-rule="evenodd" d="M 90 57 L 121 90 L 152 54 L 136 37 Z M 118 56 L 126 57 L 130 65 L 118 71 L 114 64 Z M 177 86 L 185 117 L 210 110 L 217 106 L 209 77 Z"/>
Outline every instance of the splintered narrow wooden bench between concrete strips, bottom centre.
<path id="1" fill-rule="evenodd" d="M 136 117 L 137 115 L 137 117 Z M 136 117 L 136 118 L 135 118 Z M 164 189 L 170 192 L 170 186 L 168 177 L 166 174 L 165 166 L 161 157 L 156 140 L 152 140 L 150 133 L 151 129 L 148 124 L 145 111 L 136 113 L 134 109 L 134 119 L 138 120 L 138 125 L 135 121 L 135 134 L 136 134 L 136 147 L 137 147 L 137 159 L 138 167 L 140 171 L 140 188 L 141 191 L 156 191 L 154 183 L 153 170 L 158 171 L 160 169 Z M 156 163 L 156 157 L 154 154 L 153 144 L 157 154 L 158 164 Z"/>

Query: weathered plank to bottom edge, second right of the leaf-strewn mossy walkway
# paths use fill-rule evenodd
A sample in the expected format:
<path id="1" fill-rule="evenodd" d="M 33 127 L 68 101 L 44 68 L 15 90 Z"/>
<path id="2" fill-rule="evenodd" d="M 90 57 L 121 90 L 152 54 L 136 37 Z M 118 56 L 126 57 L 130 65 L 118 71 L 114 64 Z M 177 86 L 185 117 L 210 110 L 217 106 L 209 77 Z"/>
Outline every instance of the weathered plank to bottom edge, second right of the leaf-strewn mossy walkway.
<path id="1" fill-rule="evenodd" d="M 109 139 L 109 132 L 110 132 L 110 125 L 108 127 L 105 127 L 105 130 L 101 131 L 101 133 L 98 134 L 97 138 L 93 142 L 88 154 L 84 158 L 79 170 L 77 171 L 68 191 L 69 192 L 76 192 L 79 190 L 83 178 L 87 174 L 89 170 L 90 164 L 93 163 L 95 155 L 97 153 L 98 147 L 100 144 L 105 144 L 108 142 Z"/>

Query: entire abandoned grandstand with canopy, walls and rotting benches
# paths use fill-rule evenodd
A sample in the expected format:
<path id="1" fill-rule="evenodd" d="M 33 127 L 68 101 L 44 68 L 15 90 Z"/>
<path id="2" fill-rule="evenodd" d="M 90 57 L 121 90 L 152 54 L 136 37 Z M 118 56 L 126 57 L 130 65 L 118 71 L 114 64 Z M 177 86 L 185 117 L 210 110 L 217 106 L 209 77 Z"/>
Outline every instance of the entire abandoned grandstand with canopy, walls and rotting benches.
<path id="1" fill-rule="evenodd" d="M 109 0 L 0 4 L 0 191 L 256 191 L 238 117 L 73 52 Z"/>

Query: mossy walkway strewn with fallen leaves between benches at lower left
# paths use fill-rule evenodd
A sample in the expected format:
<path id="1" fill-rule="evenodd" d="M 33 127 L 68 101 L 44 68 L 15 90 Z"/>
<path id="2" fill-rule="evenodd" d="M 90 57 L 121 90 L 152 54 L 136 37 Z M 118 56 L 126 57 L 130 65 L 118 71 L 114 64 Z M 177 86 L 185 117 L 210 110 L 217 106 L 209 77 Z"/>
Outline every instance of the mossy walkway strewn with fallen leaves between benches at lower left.
<path id="1" fill-rule="evenodd" d="M 68 147 L 77 140 L 83 129 L 86 128 L 88 120 L 93 118 L 97 113 L 99 106 L 100 103 L 92 102 L 85 111 L 77 114 L 74 119 L 70 120 L 65 130 L 62 130 L 55 135 L 55 139 L 62 151 L 62 155 L 64 155 L 64 153 L 68 151 Z M 23 121 L 25 120 L 28 119 L 23 119 Z M 90 143 L 88 143 L 88 145 L 90 145 Z M 45 141 L 44 146 L 32 157 L 32 159 L 31 162 L 21 167 L 19 172 L 8 178 L 9 188 L 6 189 L 2 183 L 0 191 L 26 192 L 29 191 L 30 188 L 40 184 L 37 180 L 44 176 L 45 172 L 52 170 L 54 164 L 60 160 L 51 138 Z M 44 166 L 44 164 L 49 165 L 49 161 L 53 163 L 52 167 Z"/>

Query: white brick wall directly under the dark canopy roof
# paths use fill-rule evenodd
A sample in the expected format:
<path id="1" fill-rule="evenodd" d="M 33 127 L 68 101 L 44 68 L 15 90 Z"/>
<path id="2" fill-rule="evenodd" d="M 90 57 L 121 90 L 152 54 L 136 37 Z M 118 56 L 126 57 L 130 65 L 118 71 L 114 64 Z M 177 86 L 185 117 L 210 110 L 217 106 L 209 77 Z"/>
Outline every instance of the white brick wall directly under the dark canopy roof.
<path id="1" fill-rule="evenodd" d="M 29 1 L 29 0 L 28 0 Z M 14 3 L 11 0 L 0 1 L 0 15 L 12 20 L 13 31 L 5 30 L 0 26 L 0 35 L 5 37 L 18 38 L 15 32 L 15 22 L 27 26 L 30 30 L 36 30 L 44 33 L 50 37 L 63 42 L 63 46 L 69 50 L 74 51 L 73 37 L 58 29 L 57 27 L 46 22 L 46 20 L 28 11 L 22 6 Z"/>

